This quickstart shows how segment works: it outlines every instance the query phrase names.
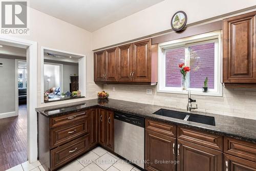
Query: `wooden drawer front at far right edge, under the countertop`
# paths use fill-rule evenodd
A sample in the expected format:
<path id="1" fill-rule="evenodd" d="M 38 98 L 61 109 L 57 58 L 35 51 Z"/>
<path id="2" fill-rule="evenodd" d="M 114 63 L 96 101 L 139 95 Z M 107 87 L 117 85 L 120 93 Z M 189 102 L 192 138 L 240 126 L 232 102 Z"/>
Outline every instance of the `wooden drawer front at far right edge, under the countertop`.
<path id="1" fill-rule="evenodd" d="M 256 162 L 256 143 L 225 137 L 224 153 Z"/>

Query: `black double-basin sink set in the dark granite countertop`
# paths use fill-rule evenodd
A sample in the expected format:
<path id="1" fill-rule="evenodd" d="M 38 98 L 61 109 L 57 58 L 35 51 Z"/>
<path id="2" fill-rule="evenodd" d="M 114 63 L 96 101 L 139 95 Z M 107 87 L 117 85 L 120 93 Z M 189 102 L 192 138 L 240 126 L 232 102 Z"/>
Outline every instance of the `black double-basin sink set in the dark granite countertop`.
<path id="1" fill-rule="evenodd" d="M 160 109 L 153 114 L 215 126 L 215 118 L 212 116 L 190 114 L 166 109 Z"/>

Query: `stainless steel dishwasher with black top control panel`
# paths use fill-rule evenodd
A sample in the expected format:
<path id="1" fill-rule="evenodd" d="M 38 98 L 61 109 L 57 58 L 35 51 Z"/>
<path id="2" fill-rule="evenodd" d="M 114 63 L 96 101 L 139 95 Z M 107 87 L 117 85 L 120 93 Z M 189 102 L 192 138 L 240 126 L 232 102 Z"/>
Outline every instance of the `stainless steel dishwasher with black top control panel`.
<path id="1" fill-rule="evenodd" d="M 144 169 L 145 119 L 115 112 L 114 152 Z"/>

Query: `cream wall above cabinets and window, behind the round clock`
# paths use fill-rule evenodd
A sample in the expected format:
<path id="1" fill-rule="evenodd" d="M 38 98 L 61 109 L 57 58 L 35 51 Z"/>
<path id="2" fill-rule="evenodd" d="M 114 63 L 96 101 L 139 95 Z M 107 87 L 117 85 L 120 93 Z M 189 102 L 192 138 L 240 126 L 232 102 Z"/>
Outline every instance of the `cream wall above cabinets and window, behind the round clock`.
<path id="1" fill-rule="evenodd" d="M 256 1 L 252 0 L 165 0 L 93 32 L 92 49 L 171 29 L 170 19 L 179 10 L 187 14 L 187 24 L 190 24 L 254 5 Z"/>

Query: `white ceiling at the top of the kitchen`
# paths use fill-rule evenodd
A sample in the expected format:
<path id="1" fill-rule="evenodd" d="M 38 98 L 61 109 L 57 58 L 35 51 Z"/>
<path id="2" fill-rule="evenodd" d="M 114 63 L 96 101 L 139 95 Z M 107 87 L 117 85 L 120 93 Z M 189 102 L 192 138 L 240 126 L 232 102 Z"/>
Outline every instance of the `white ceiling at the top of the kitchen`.
<path id="1" fill-rule="evenodd" d="M 164 0 L 33 0 L 30 7 L 93 32 L 161 1 Z"/>

